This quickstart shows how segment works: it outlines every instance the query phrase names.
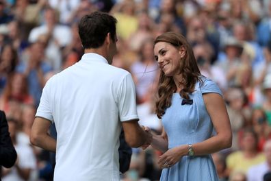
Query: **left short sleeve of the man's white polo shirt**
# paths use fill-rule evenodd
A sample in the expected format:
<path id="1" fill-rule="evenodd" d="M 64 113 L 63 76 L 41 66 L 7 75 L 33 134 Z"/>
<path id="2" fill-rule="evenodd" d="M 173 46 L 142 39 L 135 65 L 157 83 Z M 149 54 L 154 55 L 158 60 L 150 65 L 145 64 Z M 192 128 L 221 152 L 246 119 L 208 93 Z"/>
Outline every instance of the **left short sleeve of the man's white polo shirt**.
<path id="1" fill-rule="evenodd" d="M 51 79 L 48 80 L 42 90 L 42 96 L 40 97 L 40 104 L 36 112 L 36 117 L 48 119 L 53 123 L 53 114 L 51 110 L 51 99 L 50 99 L 51 83 L 52 83 Z"/>

